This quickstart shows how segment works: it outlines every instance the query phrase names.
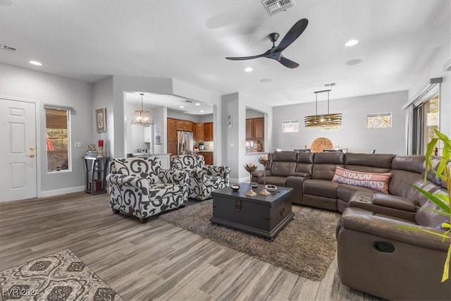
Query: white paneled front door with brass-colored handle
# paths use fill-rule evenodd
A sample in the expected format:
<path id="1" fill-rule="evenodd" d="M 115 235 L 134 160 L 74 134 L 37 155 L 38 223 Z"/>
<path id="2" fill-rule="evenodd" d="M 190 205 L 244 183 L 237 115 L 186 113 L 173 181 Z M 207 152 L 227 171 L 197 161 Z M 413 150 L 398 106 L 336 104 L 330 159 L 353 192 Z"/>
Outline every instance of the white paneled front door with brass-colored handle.
<path id="1" fill-rule="evenodd" d="M 0 99 L 0 202 L 37 197 L 36 105 Z"/>

